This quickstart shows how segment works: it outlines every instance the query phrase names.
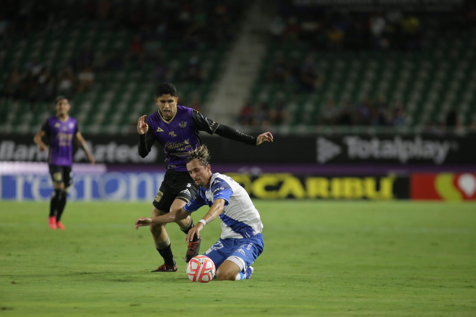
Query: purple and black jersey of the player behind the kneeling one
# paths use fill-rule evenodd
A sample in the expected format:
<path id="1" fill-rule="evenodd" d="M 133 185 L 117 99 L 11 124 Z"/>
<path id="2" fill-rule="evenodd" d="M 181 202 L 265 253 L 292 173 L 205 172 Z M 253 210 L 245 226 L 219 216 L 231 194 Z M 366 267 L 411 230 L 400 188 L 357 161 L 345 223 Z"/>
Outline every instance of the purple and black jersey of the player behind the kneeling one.
<path id="1" fill-rule="evenodd" d="M 139 153 L 147 155 L 157 140 L 164 148 L 167 169 L 187 171 L 187 157 L 201 144 L 198 131 L 213 134 L 218 123 L 192 108 L 177 106 L 177 113 L 169 121 L 158 111 L 146 119 L 149 130 L 139 135 Z M 145 157 L 145 155 L 143 157 Z"/>

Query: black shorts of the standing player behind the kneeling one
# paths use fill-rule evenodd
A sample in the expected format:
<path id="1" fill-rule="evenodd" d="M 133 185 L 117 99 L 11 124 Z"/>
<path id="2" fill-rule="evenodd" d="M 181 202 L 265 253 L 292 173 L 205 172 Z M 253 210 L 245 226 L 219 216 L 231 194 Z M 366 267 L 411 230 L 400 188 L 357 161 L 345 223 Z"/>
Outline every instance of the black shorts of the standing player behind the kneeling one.
<path id="1" fill-rule="evenodd" d="M 168 170 L 152 204 L 160 211 L 169 212 L 175 199 L 188 202 L 197 191 L 198 186 L 188 172 Z"/>

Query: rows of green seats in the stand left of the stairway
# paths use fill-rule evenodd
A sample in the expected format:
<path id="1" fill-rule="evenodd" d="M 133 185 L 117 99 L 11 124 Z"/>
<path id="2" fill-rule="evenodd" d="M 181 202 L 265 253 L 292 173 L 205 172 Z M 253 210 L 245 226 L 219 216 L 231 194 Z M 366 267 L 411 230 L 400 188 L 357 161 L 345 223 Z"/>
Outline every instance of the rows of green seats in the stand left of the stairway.
<path id="1" fill-rule="evenodd" d="M 13 66 L 24 74 L 27 65 L 38 59 L 52 72 L 58 73 L 69 63 L 77 59 L 84 48 L 95 55 L 95 62 L 100 56 L 110 56 L 114 51 L 126 53 L 134 39 L 132 30 L 116 30 L 112 22 L 79 20 L 69 23 L 64 28 L 31 32 L 28 38 L 12 37 L 12 43 L 6 50 L 4 60 L 10 68 L 0 69 L 0 91 L 6 84 Z M 168 71 L 165 77 L 158 77 L 156 59 L 128 59 L 117 70 L 101 70 L 95 67 L 92 89 L 75 93 L 70 98 L 70 114 L 77 117 L 83 131 L 91 133 L 128 132 L 135 126 L 137 118 L 149 114 L 157 106 L 153 101 L 155 86 L 161 81 L 170 81 L 178 89 L 179 104 L 188 105 L 192 98 L 198 98 L 203 104 L 207 101 L 213 83 L 216 81 L 221 61 L 231 45 L 231 39 L 220 43 L 201 43 L 196 49 L 183 47 L 177 39 L 167 42 L 167 48 L 160 50 L 160 59 Z M 144 50 L 149 46 L 161 47 L 159 40 L 144 43 Z M 198 58 L 201 79 L 184 78 L 184 71 L 192 58 Z M 121 57 L 122 58 L 122 57 Z M 75 74 L 77 76 L 78 73 Z M 0 124 L 3 131 L 21 127 L 22 132 L 35 131 L 41 122 L 52 115 L 53 105 L 47 102 L 27 102 L 1 98 Z M 10 131 L 13 132 L 13 131 Z"/>

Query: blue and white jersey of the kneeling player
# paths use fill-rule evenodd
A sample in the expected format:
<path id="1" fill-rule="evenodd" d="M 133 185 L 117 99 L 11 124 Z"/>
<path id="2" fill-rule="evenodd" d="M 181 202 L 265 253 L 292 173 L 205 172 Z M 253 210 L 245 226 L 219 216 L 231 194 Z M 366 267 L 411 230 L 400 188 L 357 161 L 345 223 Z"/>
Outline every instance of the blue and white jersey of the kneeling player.
<path id="1" fill-rule="evenodd" d="M 263 224 L 251 198 L 245 188 L 227 175 L 213 173 L 209 188 L 200 187 L 184 209 L 193 212 L 205 205 L 211 207 L 218 198 L 225 199 L 220 214 L 222 239 L 249 238 L 261 233 Z"/>

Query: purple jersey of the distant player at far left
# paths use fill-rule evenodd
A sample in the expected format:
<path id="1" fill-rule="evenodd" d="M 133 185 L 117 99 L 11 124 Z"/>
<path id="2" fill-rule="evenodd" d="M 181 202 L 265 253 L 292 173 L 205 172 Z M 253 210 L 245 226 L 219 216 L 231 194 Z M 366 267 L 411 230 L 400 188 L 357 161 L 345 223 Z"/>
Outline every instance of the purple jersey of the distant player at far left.
<path id="1" fill-rule="evenodd" d="M 59 166 L 71 166 L 73 162 L 73 139 L 78 132 L 76 119 L 69 117 L 66 121 L 56 116 L 46 119 L 41 130 L 50 140 L 48 163 Z"/>

